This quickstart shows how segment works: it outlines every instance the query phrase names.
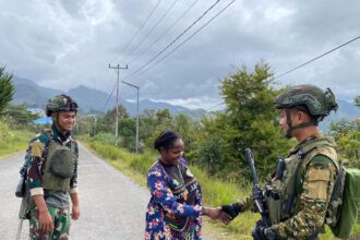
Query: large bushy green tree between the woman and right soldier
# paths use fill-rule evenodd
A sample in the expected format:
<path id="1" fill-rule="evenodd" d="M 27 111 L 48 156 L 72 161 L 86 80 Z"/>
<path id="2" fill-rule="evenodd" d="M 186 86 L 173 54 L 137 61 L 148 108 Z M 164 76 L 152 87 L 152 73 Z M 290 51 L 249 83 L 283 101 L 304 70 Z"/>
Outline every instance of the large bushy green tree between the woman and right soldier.
<path id="1" fill-rule="evenodd" d="M 256 167 L 263 176 L 269 173 L 279 155 L 287 153 L 290 143 L 284 137 L 277 124 L 278 112 L 274 99 L 279 91 L 275 89 L 273 73 L 268 64 L 261 62 L 249 72 L 245 67 L 221 81 L 220 94 L 226 104 L 225 112 L 213 119 L 203 119 L 204 133 L 202 148 L 212 147 L 224 159 L 213 166 L 223 169 L 231 178 L 249 175 L 244 149 L 253 149 Z M 209 143 L 209 141 L 214 143 Z M 207 153 L 200 153 L 206 156 Z M 206 161 L 206 159 L 203 159 Z"/>

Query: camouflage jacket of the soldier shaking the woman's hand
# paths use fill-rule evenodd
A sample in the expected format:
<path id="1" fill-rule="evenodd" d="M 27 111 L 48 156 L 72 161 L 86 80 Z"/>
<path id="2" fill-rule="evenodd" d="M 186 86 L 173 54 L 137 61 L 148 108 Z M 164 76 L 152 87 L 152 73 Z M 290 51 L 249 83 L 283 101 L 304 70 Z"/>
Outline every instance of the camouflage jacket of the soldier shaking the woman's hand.
<path id="1" fill-rule="evenodd" d="M 288 158 L 297 158 L 296 155 L 302 146 L 309 145 L 309 141 L 316 141 L 317 139 L 327 141 L 323 136 L 305 140 L 291 149 Z M 335 143 L 331 140 L 329 142 L 329 145 L 335 147 Z M 312 156 L 309 163 L 302 167 L 292 214 L 272 226 L 281 239 L 308 239 L 320 232 L 324 226 L 329 197 L 337 176 L 337 167 L 333 159 L 322 154 Z M 283 185 L 283 188 L 289 187 Z M 241 212 L 254 211 L 252 197 L 240 200 L 238 205 Z"/>

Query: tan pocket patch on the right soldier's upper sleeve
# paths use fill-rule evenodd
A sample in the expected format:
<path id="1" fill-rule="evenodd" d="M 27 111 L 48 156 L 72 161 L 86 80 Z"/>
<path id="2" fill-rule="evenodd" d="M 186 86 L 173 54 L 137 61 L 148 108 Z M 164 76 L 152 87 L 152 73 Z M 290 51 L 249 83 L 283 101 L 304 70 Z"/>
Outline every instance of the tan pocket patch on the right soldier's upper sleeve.
<path id="1" fill-rule="evenodd" d="M 310 168 L 307 177 L 304 184 L 307 195 L 313 200 L 327 200 L 331 170 Z"/>

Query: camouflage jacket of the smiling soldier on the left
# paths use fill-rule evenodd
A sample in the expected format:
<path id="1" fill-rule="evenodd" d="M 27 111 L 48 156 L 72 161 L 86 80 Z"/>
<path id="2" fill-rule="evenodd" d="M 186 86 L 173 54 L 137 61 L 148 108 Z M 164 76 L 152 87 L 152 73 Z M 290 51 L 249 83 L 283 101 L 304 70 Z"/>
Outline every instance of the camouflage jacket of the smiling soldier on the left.
<path id="1" fill-rule="evenodd" d="M 25 161 L 29 163 L 27 169 L 27 182 L 29 185 L 31 195 L 44 195 L 43 189 L 43 169 L 45 166 L 46 156 L 44 156 L 44 151 L 46 144 L 49 142 L 49 135 L 52 136 L 52 141 L 70 147 L 72 139 L 71 134 L 62 135 L 57 128 L 51 125 L 51 134 L 41 132 L 36 135 L 29 142 L 28 148 L 26 149 Z M 75 147 L 75 153 L 79 154 L 77 146 Z M 77 159 L 74 166 L 74 176 L 70 179 L 70 193 L 77 192 Z"/>

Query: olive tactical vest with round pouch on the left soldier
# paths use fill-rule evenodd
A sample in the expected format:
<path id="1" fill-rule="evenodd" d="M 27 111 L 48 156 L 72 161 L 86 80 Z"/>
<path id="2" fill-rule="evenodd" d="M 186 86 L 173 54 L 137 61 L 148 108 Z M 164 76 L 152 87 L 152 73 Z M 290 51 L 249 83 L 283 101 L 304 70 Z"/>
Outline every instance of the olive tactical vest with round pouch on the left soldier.
<path id="1" fill-rule="evenodd" d="M 70 148 L 49 136 L 45 147 L 45 166 L 43 168 L 43 188 L 50 192 L 69 192 L 70 179 L 74 176 L 76 142 L 71 141 Z"/>

